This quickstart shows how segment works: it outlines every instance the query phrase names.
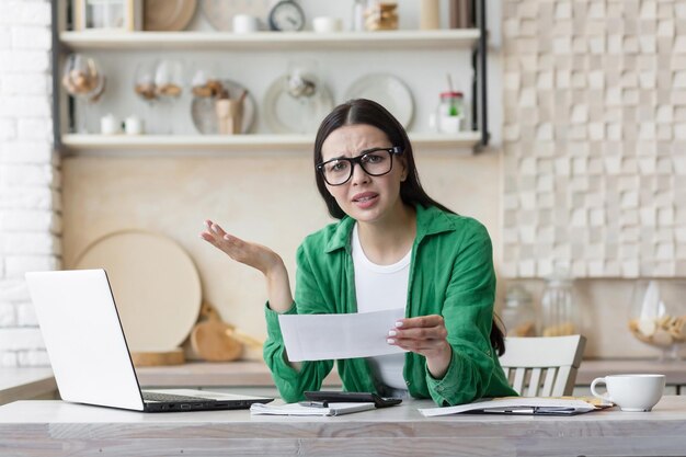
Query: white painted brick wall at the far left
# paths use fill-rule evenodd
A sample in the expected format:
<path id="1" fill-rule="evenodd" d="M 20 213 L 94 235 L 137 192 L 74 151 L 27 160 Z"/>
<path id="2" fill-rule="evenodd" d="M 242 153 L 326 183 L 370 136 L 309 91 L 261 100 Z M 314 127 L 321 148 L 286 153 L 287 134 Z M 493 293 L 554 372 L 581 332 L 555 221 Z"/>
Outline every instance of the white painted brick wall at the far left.
<path id="1" fill-rule="evenodd" d="M 24 273 L 60 267 L 49 0 L 0 0 L 0 366 L 49 365 Z"/>

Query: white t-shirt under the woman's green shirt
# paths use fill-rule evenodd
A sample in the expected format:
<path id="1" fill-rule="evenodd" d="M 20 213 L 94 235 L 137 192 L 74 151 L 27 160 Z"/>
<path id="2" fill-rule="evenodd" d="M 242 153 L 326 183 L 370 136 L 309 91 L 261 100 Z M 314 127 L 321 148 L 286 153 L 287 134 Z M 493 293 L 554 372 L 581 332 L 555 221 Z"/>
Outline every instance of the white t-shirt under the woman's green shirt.
<path id="1" fill-rule="evenodd" d="M 357 224 L 353 227 L 352 249 L 357 312 L 404 309 L 408 304 L 412 249 L 392 265 L 377 265 L 367 259 L 362 249 Z M 402 377 L 404 354 L 379 355 L 368 361 L 374 376 L 381 384 L 393 389 L 408 388 Z"/>

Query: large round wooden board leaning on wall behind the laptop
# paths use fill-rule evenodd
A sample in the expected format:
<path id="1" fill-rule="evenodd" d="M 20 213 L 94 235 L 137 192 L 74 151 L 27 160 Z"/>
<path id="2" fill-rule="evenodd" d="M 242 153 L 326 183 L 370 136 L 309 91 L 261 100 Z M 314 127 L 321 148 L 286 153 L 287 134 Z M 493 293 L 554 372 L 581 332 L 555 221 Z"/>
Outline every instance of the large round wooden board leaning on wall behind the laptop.
<path id="1" fill-rule="evenodd" d="M 201 278 L 188 254 L 158 233 L 125 230 L 91 243 L 77 269 L 105 269 L 132 352 L 179 347 L 201 309 Z"/>

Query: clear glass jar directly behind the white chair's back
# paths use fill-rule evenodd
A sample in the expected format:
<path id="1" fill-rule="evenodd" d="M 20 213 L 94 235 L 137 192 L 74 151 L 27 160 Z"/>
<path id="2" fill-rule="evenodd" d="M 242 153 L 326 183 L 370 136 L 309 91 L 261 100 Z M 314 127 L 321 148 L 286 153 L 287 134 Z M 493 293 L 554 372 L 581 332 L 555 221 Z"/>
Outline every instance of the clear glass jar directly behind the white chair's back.
<path id="1" fill-rule="evenodd" d="M 546 279 L 541 298 L 541 334 L 544 336 L 562 336 L 580 332 L 573 286 L 574 281 L 564 271 L 558 271 Z"/>

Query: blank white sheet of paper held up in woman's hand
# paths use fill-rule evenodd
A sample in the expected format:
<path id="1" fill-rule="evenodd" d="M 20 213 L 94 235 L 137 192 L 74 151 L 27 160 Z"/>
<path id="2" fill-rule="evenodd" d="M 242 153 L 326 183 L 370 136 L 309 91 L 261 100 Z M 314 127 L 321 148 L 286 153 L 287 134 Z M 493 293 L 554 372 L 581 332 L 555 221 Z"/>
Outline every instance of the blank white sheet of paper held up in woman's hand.
<path id="1" fill-rule="evenodd" d="M 328 361 L 404 352 L 386 342 L 404 309 L 348 315 L 282 315 L 281 332 L 290 362 Z"/>

